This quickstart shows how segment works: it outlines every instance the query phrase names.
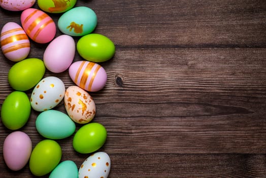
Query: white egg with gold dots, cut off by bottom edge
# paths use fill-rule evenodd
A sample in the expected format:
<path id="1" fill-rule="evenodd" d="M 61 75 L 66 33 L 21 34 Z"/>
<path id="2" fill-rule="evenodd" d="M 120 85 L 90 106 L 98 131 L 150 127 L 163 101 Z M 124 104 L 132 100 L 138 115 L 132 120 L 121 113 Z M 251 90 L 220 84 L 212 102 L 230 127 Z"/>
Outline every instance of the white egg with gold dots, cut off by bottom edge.
<path id="1" fill-rule="evenodd" d="M 110 172 L 110 157 L 105 152 L 89 156 L 79 168 L 79 178 L 107 178 Z"/>

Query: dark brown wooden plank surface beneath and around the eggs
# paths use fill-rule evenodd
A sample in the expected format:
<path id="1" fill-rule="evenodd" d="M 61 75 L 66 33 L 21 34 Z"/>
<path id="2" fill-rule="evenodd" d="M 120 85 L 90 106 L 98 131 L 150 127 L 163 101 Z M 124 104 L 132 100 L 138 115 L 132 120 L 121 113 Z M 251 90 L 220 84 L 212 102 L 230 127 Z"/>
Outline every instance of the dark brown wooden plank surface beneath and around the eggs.
<path id="1" fill-rule="evenodd" d="M 110 155 L 109 177 L 266 177 L 266 1 L 78 0 L 76 6 L 93 9 L 94 33 L 116 45 L 112 60 L 101 64 L 105 88 L 90 93 L 92 122 L 108 131 L 99 151 Z M 1 9 L 1 28 L 20 23 L 20 13 Z M 55 22 L 60 15 L 50 14 Z M 46 46 L 31 42 L 29 57 L 42 58 Z M 2 105 L 13 91 L 7 75 L 14 63 L 0 54 Z M 74 84 L 68 71 L 46 76 Z M 55 109 L 65 112 L 62 102 Z M 32 111 L 19 129 L 33 146 L 44 139 L 35 128 L 38 114 Z M 5 165 L 11 132 L 0 122 L 0 177 L 34 177 L 28 164 L 16 172 Z M 58 140 L 61 161 L 79 167 L 89 155 L 75 152 L 72 139 Z"/>

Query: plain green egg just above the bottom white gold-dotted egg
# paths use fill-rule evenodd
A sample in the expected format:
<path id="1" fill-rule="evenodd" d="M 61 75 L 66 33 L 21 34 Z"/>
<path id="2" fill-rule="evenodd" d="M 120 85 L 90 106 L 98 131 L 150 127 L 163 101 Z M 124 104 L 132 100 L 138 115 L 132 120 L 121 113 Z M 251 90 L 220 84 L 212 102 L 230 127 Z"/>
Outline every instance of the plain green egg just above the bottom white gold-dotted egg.
<path id="1" fill-rule="evenodd" d="M 73 147 L 78 153 L 92 153 L 106 141 L 107 131 L 102 124 L 89 123 L 82 126 L 73 138 Z"/>

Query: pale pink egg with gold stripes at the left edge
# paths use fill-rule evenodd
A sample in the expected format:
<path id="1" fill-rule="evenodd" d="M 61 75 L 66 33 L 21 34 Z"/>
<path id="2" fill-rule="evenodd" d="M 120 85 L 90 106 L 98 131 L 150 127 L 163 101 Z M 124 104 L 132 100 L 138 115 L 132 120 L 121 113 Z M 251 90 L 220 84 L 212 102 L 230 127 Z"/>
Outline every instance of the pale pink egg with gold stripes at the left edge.
<path id="1" fill-rule="evenodd" d="M 8 22 L 3 26 L 0 40 L 2 52 L 10 61 L 24 60 L 29 54 L 29 39 L 22 27 L 15 22 Z"/>

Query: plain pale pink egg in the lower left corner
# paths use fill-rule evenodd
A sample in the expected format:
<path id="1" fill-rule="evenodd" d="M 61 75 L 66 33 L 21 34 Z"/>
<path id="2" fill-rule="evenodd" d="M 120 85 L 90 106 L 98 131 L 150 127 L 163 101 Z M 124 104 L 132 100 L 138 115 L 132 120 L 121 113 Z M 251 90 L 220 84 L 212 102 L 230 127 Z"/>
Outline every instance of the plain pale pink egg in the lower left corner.
<path id="1" fill-rule="evenodd" d="M 20 170 L 28 162 L 32 150 L 29 136 L 21 131 L 9 134 L 3 145 L 3 155 L 7 166 L 11 170 Z"/>

